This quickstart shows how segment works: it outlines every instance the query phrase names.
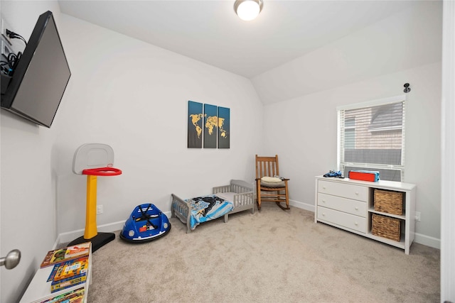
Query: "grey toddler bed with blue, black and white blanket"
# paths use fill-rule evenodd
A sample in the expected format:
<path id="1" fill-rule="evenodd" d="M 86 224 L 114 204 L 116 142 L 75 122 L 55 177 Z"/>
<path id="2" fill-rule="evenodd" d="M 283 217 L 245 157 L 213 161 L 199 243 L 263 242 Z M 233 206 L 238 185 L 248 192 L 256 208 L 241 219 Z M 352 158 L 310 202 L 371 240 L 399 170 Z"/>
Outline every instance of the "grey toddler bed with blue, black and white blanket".
<path id="1" fill-rule="evenodd" d="M 252 184 L 242 180 L 230 180 L 229 185 L 213 187 L 212 194 L 181 199 L 172 194 L 171 217 L 177 217 L 186 224 L 186 233 L 190 233 L 200 223 L 225 217 L 230 214 L 251 209 L 255 212 Z"/>

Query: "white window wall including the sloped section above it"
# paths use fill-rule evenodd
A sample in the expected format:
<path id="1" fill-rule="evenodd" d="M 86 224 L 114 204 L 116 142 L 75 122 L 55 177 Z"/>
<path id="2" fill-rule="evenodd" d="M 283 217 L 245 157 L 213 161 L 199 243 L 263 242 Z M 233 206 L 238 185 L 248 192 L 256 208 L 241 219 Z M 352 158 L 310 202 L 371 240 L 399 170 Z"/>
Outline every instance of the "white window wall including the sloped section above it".
<path id="1" fill-rule="evenodd" d="M 279 123 L 264 123 L 264 143 L 269 155 L 279 154 L 280 173 L 291 179 L 291 204 L 306 209 L 314 209 L 314 176 L 336 169 L 336 106 L 404 94 L 403 84 L 410 83 L 412 90 L 407 94 L 405 182 L 417 184 L 416 210 L 422 214 L 421 221 L 416 222 L 416 241 L 439 247 L 441 2 L 424 5 L 429 5 L 427 10 L 420 8 L 397 14 L 400 18 L 387 18 L 387 22 L 380 21 L 294 62 L 259 75 L 253 79 L 253 83 L 262 97 L 268 89 L 279 94 L 280 89 L 283 89 L 279 87 L 280 84 L 286 82 L 289 75 L 293 77 L 287 82 L 290 92 L 284 96 L 289 94 L 296 97 L 275 104 L 266 99 L 269 105 L 264 106 L 264 121 Z M 419 31 L 422 27 L 424 31 Z M 397 38 L 394 31 L 400 31 L 401 39 Z M 393 43 L 390 43 L 390 38 Z M 417 48 L 416 41 L 422 40 L 428 43 L 422 43 Z M 384 45 L 378 47 L 378 41 Z M 368 53 L 370 60 L 365 60 L 365 54 L 358 53 L 358 49 Z M 335 58 L 331 57 L 333 54 L 336 54 Z M 413 60 L 409 60 L 409 57 Z M 337 58 L 348 58 L 348 65 L 334 64 L 333 60 Z M 397 66 L 389 65 L 387 58 L 397 63 Z M 316 64 L 317 68 L 313 66 Z M 303 94 L 306 90 L 301 90 L 296 84 L 305 85 L 309 75 L 317 77 L 321 71 L 326 71 L 328 79 L 332 79 L 336 75 L 343 75 L 346 68 L 350 70 L 346 72 L 346 77 L 350 79 L 341 86 L 333 87 L 329 81 L 326 89 Z M 373 70 L 373 74 L 368 69 Z M 355 77 L 351 77 L 353 75 Z M 371 75 L 375 77 L 369 77 Z M 264 90 L 264 87 L 267 89 Z M 286 85 L 282 87 L 287 88 Z"/>

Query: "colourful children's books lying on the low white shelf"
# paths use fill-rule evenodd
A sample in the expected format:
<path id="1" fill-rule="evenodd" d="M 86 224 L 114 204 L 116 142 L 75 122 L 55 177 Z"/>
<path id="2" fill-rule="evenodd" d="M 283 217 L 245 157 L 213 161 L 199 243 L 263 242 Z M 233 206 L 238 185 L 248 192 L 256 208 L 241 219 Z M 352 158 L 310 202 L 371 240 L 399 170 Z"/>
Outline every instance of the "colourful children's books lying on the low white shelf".
<path id="1" fill-rule="evenodd" d="M 89 267 L 90 242 L 50 250 L 41 268 L 53 265 L 48 282 L 50 292 L 58 292 L 85 283 Z"/>

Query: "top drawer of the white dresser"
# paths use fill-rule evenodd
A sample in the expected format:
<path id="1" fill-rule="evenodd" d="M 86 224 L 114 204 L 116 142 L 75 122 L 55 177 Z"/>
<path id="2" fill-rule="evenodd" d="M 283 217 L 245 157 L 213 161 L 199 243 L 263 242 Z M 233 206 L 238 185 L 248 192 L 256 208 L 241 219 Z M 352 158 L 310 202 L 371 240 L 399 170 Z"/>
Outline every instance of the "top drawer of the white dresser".
<path id="1" fill-rule="evenodd" d="M 364 202 L 368 201 L 368 187 L 360 185 L 319 180 L 318 192 Z"/>

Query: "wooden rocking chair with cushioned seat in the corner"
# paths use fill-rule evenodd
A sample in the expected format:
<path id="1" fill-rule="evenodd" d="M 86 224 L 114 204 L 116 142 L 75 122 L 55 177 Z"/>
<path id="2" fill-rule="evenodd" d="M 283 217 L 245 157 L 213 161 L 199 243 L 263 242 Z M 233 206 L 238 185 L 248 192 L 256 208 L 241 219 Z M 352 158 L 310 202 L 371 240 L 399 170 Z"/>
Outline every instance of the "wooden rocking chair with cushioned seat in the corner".
<path id="1" fill-rule="evenodd" d="M 274 157 L 256 155 L 257 209 L 261 209 L 262 202 L 275 202 L 281 209 L 289 209 L 287 190 L 289 179 L 277 180 L 274 176 L 279 176 L 278 155 Z M 281 202 L 286 202 L 286 207 L 282 206 Z"/>

